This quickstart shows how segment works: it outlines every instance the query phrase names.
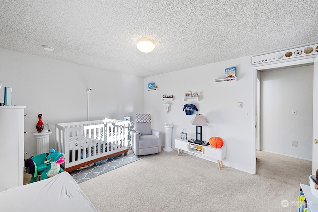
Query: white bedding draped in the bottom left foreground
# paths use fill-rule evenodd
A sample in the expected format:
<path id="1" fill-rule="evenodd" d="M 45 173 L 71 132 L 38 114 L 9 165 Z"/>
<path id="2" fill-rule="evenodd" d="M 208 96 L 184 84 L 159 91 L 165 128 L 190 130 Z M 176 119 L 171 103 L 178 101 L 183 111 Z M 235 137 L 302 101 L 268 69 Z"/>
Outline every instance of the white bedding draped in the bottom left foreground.
<path id="1" fill-rule="evenodd" d="M 68 172 L 0 192 L 1 212 L 97 212 Z"/>

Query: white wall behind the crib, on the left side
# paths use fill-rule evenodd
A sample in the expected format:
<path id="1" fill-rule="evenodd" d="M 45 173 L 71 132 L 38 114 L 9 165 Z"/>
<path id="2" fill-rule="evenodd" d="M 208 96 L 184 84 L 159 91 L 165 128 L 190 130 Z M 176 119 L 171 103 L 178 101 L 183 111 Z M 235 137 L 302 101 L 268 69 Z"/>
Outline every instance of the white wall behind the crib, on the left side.
<path id="1" fill-rule="evenodd" d="M 32 133 L 36 132 L 39 113 L 53 131 L 50 148 L 54 147 L 56 123 L 87 120 L 87 88 L 93 88 L 89 120 L 123 119 L 144 110 L 140 95 L 143 78 L 7 49 L 0 49 L 0 53 L 0 101 L 4 100 L 4 86 L 8 86 L 12 88 L 12 104 L 26 106 L 26 157 L 37 154 Z"/>

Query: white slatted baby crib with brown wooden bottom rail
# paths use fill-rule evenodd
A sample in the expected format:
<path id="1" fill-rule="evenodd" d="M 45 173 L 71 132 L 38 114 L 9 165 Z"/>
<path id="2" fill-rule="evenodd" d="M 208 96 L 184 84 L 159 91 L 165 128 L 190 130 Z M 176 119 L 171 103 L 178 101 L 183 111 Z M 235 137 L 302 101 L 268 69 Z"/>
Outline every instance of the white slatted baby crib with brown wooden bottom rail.
<path id="1" fill-rule="evenodd" d="M 119 154 L 127 155 L 130 122 L 116 119 L 55 124 L 56 151 L 65 153 L 64 171 Z"/>

